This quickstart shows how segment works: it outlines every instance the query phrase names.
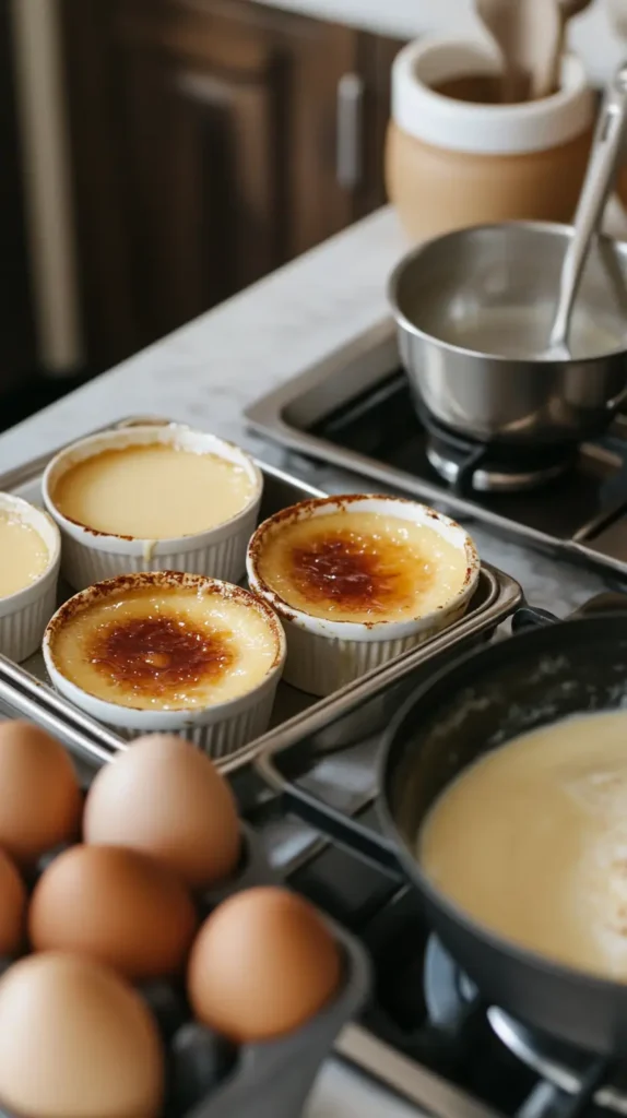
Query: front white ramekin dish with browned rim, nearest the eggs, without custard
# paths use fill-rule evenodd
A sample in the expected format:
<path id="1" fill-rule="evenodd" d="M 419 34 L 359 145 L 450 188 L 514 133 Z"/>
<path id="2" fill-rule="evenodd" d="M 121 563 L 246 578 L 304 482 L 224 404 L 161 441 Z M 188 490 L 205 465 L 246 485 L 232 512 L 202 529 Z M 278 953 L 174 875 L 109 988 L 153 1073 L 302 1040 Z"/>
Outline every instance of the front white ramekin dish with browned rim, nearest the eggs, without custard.
<path id="1" fill-rule="evenodd" d="M 134 590 L 142 586 L 206 589 L 208 594 L 239 598 L 251 608 L 257 609 L 268 622 L 276 639 L 276 656 L 267 675 L 246 694 L 199 710 L 137 710 L 136 708 L 120 707 L 116 703 L 97 699 L 77 686 L 55 664 L 54 639 L 56 633 L 92 601 L 102 600 L 108 594 L 120 594 L 125 588 Z M 137 575 L 120 575 L 117 578 L 108 579 L 75 594 L 49 622 L 44 635 L 42 652 L 48 674 L 56 690 L 87 714 L 113 727 L 121 737 L 132 740 L 142 733 L 180 733 L 213 760 L 220 760 L 266 731 L 285 663 L 286 643 L 281 622 L 274 610 L 265 601 L 256 598 L 240 586 L 181 571 L 150 571 Z"/>

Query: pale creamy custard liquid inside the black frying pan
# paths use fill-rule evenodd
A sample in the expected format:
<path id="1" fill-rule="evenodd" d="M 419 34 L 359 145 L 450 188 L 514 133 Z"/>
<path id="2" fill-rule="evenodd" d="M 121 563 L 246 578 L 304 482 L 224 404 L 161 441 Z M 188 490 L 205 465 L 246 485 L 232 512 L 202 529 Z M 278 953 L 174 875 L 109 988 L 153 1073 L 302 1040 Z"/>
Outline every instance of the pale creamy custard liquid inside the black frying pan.
<path id="1" fill-rule="evenodd" d="M 431 808 L 419 861 L 484 927 L 627 982 L 627 711 L 488 754 Z"/>

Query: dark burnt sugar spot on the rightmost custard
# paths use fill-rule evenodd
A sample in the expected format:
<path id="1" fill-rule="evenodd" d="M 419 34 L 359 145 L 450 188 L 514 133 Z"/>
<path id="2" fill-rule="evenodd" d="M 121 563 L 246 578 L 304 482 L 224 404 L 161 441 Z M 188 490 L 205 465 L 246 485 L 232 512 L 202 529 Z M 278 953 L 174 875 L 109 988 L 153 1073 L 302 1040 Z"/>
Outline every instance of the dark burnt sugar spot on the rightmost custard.
<path id="1" fill-rule="evenodd" d="M 354 613 L 382 614 L 409 604 L 434 577 L 407 544 L 348 530 L 293 546 L 289 566 L 304 598 Z"/>

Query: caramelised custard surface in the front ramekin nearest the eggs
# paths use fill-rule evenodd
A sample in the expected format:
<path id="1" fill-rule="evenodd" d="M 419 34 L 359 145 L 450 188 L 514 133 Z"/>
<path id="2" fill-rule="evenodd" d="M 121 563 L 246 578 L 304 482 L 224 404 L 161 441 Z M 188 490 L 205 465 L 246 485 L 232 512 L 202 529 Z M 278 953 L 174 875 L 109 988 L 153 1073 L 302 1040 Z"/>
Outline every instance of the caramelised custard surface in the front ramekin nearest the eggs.
<path id="1" fill-rule="evenodd" d="M 106 702 L 194 710 L 253 691 L 274 666 L 277 637 L 241 599 L 191 589 L 135 589 L 59 625 L 57 669 Z"/>

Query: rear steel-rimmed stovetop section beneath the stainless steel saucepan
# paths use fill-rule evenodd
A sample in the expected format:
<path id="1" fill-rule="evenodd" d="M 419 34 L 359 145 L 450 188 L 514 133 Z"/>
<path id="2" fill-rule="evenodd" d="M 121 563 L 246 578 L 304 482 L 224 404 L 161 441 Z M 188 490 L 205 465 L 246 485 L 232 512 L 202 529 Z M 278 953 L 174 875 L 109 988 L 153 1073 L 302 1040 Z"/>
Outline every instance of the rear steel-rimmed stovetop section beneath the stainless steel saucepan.
<path id="1" fill-rule="evenodd" d="M 540 459 L 539 474 L 544 467 L 548 479 L 541 485 L 530 477 L 524 491 L 486 492 L 482 476 L 491 464 L 481 455 L 474 462 L 472 446 L 453 462 L 445 448 L 446 480 L 437 461 L 441 448 L 417 414 L 390 324 L 264 397 L 246 416 L 255 429 L 301 454 L 408 492 L 466 523 L 476 518 L 552 555 L 627 577 L 624 416 L 602 439 L 579 447 L 572 462 L 553 461 L 550 453 L 551 461 Z M 513 467 L 530 472 L 529 462 Z"/>

